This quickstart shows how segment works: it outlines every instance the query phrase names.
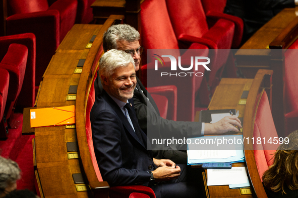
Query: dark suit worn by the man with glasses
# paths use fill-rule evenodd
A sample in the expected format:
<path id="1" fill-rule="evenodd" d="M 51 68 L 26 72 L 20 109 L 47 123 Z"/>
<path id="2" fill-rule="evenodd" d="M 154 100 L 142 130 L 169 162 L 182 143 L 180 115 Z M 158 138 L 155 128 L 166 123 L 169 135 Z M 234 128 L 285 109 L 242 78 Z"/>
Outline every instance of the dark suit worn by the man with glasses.
<path id="1" fill-rule="evenodd" d="M 202 123 L 199 122 L 177 122 L 166 120 L 160 117 L 158 108 L 150 95 L 147 92 L 145 86 L 141 80 L 137 77 L 137 88 L 143 90 L 146 97 L 144 97 L 140 91 L 134 91 L 134 108 L 139 121 L 141 129 L 147 134 L 150 142 L 152 138 L 188 138 L 198 137 L 201 135 Z M 97 96 L 102 90 L 100 78 L 97 78 L 94 82 L 95 95 Z M 148 124 L 148 125 L 147 125 Z M 187 145 L 171 145 L 171 147 L 165 147 L 165 145 L 152 145 L 153 156 L 157 159 L 170 159 L 177 164 L 187 163 Z M 177 151 L 183 150 L 182 151 Z"/>

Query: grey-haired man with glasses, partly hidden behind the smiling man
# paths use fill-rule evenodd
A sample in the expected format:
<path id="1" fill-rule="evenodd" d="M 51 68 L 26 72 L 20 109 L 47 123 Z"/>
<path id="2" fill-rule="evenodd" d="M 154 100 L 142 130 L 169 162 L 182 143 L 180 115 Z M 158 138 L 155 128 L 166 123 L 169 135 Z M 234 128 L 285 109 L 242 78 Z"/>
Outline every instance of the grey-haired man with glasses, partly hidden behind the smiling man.
<path id="1" fill-rule="evenodd" d="M 140 34 L 135 28 L 127 24 L 113 25 L 103 35 L 103 50 L 107 52 L 111 49 L 118 49 L 131 54 L 135 61 L 135 69 L 138 71 L 141 61 L 140 55 L 144 50 L 144 48 L 140 46 L 139 39 Z M 97 75 L 94 82 L 94 89 L 97 97 L 102 91 L 99 75 Z M 150 132 L 157 134 L 159 136 L 158 138 L 164 137 L 163 134 L 172 134 L 174 137 L 178 136 L 185 138 L 198 137 L 204 134 L 222 134 L 227 131 L 238 132 L 239 130 L 235 126 L 242 128 L 241 121 L 235 116 L 227 116 L 214 124 L 177 122 L 163 119 L 160 117 L 158 108 L 152 96 L 147 92 L 138 77 L 133 98 L 134 109 L 141 129 L 147 134 L 147 129 L 150 128 Z M 170 159 L 175 163 L 186 164 L 186 145 L 182 146 L 185 147 L 177 148 L 172 145 L 171 148 L 163 147 L 160 148 L 160 150 L 154 150 L 153 156 L 157 159 Z M 177 149 L 182 149 L 184 151 Z"/>

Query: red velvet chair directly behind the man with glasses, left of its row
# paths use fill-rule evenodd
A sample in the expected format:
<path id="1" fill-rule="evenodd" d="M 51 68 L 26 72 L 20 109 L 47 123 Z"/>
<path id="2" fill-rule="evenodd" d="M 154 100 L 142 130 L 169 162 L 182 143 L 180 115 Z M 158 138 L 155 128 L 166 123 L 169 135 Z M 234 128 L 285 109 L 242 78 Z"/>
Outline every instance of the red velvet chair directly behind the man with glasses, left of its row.
<path id="1" fill-rule="evenodd" d="M 177 104 L 179 104 L 177 105 L 177 120 L 194 121 L 195 97 L 201 86 L 203 77 L 193 76 L 192 78 L 185 80 L 177 80 L 177 78 L 158 78 L 157 76 L 154 76 L 154 58 L 152 58 L 152 56 L 147 56 L 146 49 L 173 49 L 171 50 L 171 55 L 174 56 L 176 60 L 178 60 L 178 56 L 181 56 L 182 54 L 180 53 L 180 50 L 178 50 L 178 41 L 175 37 L 167 13 L 165 1 L 146 0 L 142 3 L 141 9 L 141 37 L 142 46 L 145 48 L 142 54 L 142 61 L 143 63 L 152 63 L 144 65 L 141 68 L 142 83 L 148 87 L 175 85 L 177 87 Z M 189 48 L 203 49 L 198 51 L 198 56 L 208 56 L 208 48 L 205 45 L 193 43 Z M 148 60 L 147 57 L 149 58 Z M 163 70 L 168 69 L 169 66 L 170 64 L 166 62 L 165 66 L 158 70 L 162 72 Z M 198 71 L 195 71 L 193 68 L 193 70 L 190 70 L 189 72 L 204 73 L 205 68 L 199 67 Z M 147 84 L 147 76 L 150 78 L 148 80 L 152 83 Z"/>

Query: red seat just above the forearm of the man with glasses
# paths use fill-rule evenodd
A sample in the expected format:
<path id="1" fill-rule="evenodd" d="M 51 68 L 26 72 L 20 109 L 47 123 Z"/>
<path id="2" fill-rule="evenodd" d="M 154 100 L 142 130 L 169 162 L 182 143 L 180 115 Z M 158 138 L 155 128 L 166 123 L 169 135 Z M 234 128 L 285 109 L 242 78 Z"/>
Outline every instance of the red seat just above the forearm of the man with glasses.
<path id="1" fill-rule="evenodd" d="M 174 85 L 148 87 L 147 91 L 153 97 L 160 116 L 167 120 L 177 118 L 177 87 Z"/>

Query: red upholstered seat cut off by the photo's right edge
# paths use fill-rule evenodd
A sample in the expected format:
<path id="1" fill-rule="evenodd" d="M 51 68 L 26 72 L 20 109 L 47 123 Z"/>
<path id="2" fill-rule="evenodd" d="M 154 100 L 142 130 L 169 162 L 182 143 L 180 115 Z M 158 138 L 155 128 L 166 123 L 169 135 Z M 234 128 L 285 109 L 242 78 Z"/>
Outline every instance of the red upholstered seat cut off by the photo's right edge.
<path id="1" fill-rule="evenodd" d="M 298 129 L 298 40 L 284 53 L 284 105 L 285 136 Z"/>

